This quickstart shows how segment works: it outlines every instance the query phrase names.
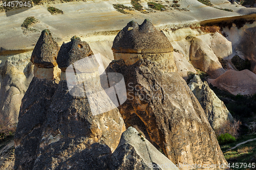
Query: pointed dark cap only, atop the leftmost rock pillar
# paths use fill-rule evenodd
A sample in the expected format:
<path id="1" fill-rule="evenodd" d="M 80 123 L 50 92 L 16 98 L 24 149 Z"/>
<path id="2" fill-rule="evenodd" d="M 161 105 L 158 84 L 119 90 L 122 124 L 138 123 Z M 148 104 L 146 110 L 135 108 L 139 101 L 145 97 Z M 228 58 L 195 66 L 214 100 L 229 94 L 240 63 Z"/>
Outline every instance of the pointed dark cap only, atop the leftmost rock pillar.
<path id="1" fill-rule="evenodd" d="M 31 55 L 31 62 L 39 67 L 52 68 L 57 65 L 59 46 L 49 30 L 43 30 Z"/>

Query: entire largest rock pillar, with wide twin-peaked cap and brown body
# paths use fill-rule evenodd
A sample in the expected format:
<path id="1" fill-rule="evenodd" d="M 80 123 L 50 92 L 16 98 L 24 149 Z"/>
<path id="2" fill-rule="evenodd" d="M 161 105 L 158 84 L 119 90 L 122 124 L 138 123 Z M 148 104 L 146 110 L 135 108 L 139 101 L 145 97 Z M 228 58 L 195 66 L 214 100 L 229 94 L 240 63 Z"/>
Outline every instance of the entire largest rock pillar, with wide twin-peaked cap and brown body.
<path id="1" fill-rule="evenodd" d="M 163 51 L 148 48 L 158 37 L 165 42 Z M 165 35 L 148 20 L 140 26 L 132 21 L 118 33 L 112 49 L 115 61 L 106 71 L 124 77 L 127 101 L 119 111 L 126 126 L 136 127 L 175 164 L 226 164 L 200 103 L 176 72 Z"/>

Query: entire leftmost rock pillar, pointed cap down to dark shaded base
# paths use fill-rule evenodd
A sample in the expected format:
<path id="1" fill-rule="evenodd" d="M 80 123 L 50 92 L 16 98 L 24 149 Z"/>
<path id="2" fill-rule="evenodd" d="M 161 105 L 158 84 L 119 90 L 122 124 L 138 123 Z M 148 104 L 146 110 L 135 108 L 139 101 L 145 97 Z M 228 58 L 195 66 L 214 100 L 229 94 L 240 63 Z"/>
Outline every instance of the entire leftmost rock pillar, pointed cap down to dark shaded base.
<path id="1" fill-rule="evenodd" d="M 48 41 L 49 39 L 51 41 Z M 52 96 L 60 79 L 60 70 L 57 67 L 49 67 L 49 62 L 56 63 L 55 55 L 57 55 L 57 52 L 50 53 L 52 49 L 49 46 L 58 49 L 50 31 L 44 30 L 31 57 L 31 61 L 35 64 L 34 78 L 20 106 L 18 125 L 14 136 L 14 169 L 28 170 L 33 168 L 39 147 L 38 143 L 41 140 L 42 126 L 47 118 L 47 109 L 52 102 Z M 38 58 L 44 62 L 35 60 Z"/>

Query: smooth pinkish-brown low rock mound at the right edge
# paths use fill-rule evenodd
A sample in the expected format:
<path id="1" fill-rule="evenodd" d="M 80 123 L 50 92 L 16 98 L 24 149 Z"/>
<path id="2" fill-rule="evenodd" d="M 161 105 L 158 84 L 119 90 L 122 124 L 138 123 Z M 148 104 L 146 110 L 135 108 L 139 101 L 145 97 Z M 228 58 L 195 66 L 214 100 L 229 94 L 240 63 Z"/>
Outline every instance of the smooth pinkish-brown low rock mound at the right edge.
<path id="1" fill-rule="evenodd" d="M 217 79 L 209 79 L 208 83 L 226 90 L 234 95 L 255 94 L 256 75 L 248 69 L 242 71 L 227 70 Z"/>

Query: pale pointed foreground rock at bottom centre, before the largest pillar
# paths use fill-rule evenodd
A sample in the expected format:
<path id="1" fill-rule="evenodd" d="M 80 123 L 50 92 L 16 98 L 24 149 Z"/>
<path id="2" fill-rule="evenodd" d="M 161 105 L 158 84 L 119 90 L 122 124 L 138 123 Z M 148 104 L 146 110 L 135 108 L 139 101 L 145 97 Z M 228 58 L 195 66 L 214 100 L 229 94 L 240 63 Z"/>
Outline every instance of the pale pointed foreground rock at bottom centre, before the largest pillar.
<path id="1" fill-rule="evenodd" d="M 111 169 L 179 169 L 139 135 L 133 127 L 123 132 L 117 149 L 111 155 Z"/>

